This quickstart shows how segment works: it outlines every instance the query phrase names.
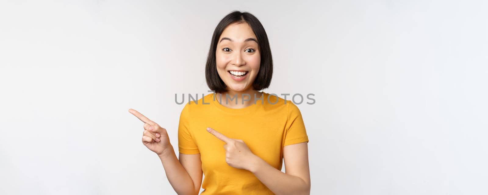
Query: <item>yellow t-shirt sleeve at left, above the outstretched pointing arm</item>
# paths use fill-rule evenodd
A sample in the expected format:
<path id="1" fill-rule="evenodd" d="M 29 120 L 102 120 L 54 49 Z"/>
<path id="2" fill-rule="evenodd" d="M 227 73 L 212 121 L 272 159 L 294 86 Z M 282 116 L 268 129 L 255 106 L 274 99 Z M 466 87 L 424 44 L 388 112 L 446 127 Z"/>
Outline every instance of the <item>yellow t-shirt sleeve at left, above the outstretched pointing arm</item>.
<path id="1" fill-rule="evenodd" d="M 199 154 L 200 151 L 190 133 L 189 123 L 191 117 L 189 115 L 189 105 L 185 104 L 180 114 L 180 122 L 178 125 L 178 150 L 181 154 L 194 155 Z"/>

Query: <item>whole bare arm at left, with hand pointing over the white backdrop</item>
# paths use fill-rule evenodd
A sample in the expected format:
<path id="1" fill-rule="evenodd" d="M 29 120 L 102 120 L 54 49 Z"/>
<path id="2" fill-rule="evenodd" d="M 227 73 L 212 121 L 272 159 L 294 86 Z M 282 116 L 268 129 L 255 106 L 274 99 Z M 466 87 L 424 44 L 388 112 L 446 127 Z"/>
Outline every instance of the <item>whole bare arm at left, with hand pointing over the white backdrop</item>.
<path id="1" fill-rule="evenodd" d="M 163 163 L 169 183 L 178 195 L 198 195 L 202 185 L 202 161 L 200 154 L 185 155 L 176 158 L 173 146 L 169 142 L 166 129 L 134 109 L 129 112 L 144 122 L 142 143 L 155 152 Z"/>

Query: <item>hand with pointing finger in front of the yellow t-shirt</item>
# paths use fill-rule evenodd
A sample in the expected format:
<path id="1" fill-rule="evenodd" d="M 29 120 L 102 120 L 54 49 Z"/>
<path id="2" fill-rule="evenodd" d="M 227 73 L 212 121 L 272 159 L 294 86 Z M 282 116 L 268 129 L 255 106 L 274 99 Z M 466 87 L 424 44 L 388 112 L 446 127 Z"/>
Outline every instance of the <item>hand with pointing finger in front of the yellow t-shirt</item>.
<path id="1" fill-rule="evenodd" d="M 252 169 L 255 158 L 258 156 L 251 152 L 243 140 L 226 137 L 210 127 L 207 128 L 207 131 L 225 142 L 225 162 L 227 162 L 228 165 L 248 171 Z"/>

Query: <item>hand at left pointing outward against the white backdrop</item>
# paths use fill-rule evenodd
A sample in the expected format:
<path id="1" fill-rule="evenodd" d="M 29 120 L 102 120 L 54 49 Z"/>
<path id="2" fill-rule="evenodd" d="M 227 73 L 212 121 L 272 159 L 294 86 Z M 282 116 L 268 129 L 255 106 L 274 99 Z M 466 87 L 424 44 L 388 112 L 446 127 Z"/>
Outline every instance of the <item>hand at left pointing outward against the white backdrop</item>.
<path id="1" fill-rule="evenodd" d="M 172 147 L 169 143 L 169 137 L 166 129 L 160 127 L 157 123 L 149 120 L 147 117 L 144 117 L 144 115 L 134 109 L 129 109 L 129 113 L 133 114 L 144 122 L 142 144 L 144 144 L 149 150 L 161 156 L 165 151 L 167 151 L 168 148 Z"/>

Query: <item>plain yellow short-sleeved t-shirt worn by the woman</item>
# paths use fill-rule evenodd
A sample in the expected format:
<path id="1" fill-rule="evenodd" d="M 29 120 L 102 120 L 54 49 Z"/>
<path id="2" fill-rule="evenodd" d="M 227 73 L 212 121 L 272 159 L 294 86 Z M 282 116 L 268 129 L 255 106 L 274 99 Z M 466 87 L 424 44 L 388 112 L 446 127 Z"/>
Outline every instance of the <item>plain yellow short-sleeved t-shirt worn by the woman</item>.
<path id="1" fill-rule="evenodd" d="M 201 155 L 201 195 L 273 195 L 251 172 L 229 166 L 225 162 L 225 143 L 206 128 L 242 139 L 252 153 L 281 170 L 283 147 L 308 142 L 300 110 L 292 101 L 285 103 L 285 99 L 265 92 L 263 100 L 241 109 L 222 105 L 225 97 L 222 101 L 213 97 L 208 94 L 197 103 L 186 103 L 178 127 L 179 152 Z"/>

